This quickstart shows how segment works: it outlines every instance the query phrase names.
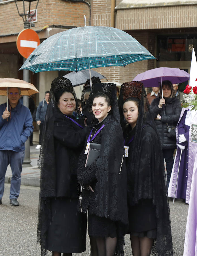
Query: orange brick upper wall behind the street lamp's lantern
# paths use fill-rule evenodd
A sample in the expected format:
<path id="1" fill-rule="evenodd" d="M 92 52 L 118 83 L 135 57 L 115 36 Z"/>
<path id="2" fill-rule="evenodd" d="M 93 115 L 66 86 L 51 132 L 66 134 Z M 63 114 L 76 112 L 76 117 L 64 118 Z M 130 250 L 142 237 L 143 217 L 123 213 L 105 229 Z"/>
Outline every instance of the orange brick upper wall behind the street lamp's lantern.
<path id="1" fill-rule="evenodd" d="M 2 2 L 3 3 L 3 2 Z M 19 33 L 24 25 L 18 15 L 15 2 L 0 3 L 0 36 Z M 17 1 L 19 12 L 23 13 L 22 1 Z M 28 2 L 25 2 L 28 6 Z M 35 9 L 37 1 L 31 3 Z M 27 10 L 27 8 L 26 8 Z M 90 20 L 90 7 L 82 2 L 62 0 L 40 0 L 37 7 L 37 22 L 34 30 L 40 30 L 48 25 L 84 26 L 84 15 L 87 24 Z"/>

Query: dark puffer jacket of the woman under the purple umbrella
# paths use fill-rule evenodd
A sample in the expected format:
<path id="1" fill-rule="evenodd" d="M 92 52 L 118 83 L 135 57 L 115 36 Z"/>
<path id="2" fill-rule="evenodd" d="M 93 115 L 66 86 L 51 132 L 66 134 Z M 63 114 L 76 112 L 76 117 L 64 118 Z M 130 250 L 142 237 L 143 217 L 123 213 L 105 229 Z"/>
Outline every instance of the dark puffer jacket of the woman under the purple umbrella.
<path id="1" fill-rule="evenodd" d="M 169 126 L 173 125 L 176 127 L 181 114 L 181 103 L 176 97 L 165 99 L 165 114 L 163 108 L 158 107 L 160 99 L 160 97 L 156 97 L 151 102 L 151 111 L 154 118 L 156 118 L 158 114 L 161 116 L 161 120 L 155 120 L 155 123 L 158 128 L 162 149 L 176 148 L 176 137 L 169 137 L 166 123 L 168 123 Z"/>

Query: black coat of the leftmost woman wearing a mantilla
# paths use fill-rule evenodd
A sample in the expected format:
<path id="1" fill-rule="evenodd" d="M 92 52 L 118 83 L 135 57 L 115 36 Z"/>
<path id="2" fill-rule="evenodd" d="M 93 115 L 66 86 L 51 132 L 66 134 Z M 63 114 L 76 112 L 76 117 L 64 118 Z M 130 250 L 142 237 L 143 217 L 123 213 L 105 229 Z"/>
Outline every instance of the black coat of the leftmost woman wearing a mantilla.
<path id="1" fill-rule="evenodd" d="M 79 123 L 75 117 L 69 116 Z M 41 170 L 41 197 L 78 198 L 77 160 L 84 145 L 86 129 L 82 129 L 62 113 L 50 119 L 51 129 Z"/>

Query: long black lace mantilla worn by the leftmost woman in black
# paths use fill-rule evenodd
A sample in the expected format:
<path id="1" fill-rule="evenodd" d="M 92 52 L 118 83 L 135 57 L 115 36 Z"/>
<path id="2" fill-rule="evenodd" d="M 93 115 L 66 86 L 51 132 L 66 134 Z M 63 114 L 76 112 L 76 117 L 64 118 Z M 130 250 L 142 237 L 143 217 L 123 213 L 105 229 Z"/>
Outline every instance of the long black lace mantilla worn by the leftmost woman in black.
<path id="1" fill-rule="evenodd" d="M 59 193 L 57 192 L 58 189 L 56 187 L 57 176 L 56 176 L 56 157 L 55 157 L 56 152 L 55 152 L 54 127 L 56 125 L 56 128 L 58 128 L 57 133 L 59 133 L 60 132 L 59 129 L 61 128 L 57 126 L 58 124 L 61 123 L 62 127 L 67 127 L 66 129 L 64 128 L 65 136 L 72 137 L 73 139 L 75 138 L 76 141 L 77 139 L 79 141 L 80 136 L 78 136 L 78 132 L 79 130 L 82 130 L 82 128 L 78 127 L 70 119 L 65 117 L 58 109 L 57 94 L 61 94 L 65 90 L 73 94 L 76 102 L 76 111 L 79 118 L 81 119 L 81 111 L 77 104 L 77 97 L 75 95 L 75 91 L 73 89 L 71 82 L 64 77 L 54 79 L 52 81 L 52 85 L 50 89 L 50 97 L 49 97 L 49 102 L 48 102 L 46 115 L 45 115 L 45 123 L 43 126 L 43 137 L 42 137 L 42 143 L 41 143 L 40 156 L 38 159 L 38 166 L 39 168 L 41 168 L 41 180 L 40 180 L 40 196 L 39 196 L 39 210 L 38 210 L 37 242 L 40 242 L 41 244 L 42 256 L 45 256 L 47 253 L 47 250 L 45 249 L 45 243 L 46 243 L 46 231 L 48 229 L 48 226 L 50 225 L 50 220 L 51 220 L 50 201 L 52 197 L 56 197 L 57 193 Z M 74 116 L 71 116 L 71 118 L 75 119 Z M 80 120 L 77 120 L 77 119 L 75 119 L 75 121 L 80 122 Z M 67 129 L 69 130 L 69 132 L 67 131 Z M 67 132 L 67 135 L 66 135 L 66 132 Z M 56 138 L 56 140 L 57 139 L 58 138 Z M 73 144 L 75 144 L 75 146 L 77 147 L 76 141 L 73 140 Z M 63 143 L 63 140 L 62 140 L 62 143 Z M 74 150 L 72 150 L 72 154 L 75 154 Z M 72 168 L 69 168 L 68 166 L 68 169 L 71 174 L 73 172 Z M 69 191 L 66 190 L 65 194 L 62 194 L 62 196 L 69 196 Z"/>

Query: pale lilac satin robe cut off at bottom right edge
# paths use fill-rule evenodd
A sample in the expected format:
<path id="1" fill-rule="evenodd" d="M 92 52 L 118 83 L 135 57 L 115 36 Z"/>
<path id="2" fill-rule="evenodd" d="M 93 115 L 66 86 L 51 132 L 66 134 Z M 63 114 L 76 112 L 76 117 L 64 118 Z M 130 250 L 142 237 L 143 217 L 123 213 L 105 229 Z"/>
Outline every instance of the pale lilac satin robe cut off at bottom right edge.
<path id="1" fill-rule="evenodd" d="M 183 256 L 197 256 L 197 155 L 194 162 Z"/>

